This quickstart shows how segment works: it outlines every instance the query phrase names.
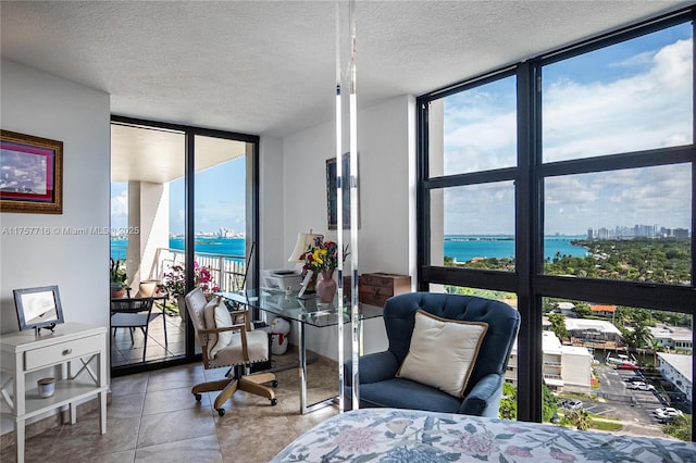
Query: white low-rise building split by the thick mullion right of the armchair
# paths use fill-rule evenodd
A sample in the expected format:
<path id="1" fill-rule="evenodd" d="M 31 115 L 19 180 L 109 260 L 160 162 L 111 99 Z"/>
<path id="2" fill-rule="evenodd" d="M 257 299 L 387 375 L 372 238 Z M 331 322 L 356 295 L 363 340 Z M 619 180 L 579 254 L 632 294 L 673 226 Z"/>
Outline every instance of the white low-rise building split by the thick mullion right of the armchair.
<path id="1" fill-rule="evenodd" d="M 542 333 L 544 384 L 557 392 L 589 393 L 592 389 L 592 354 L 582 347 L 562 346 L 552 331 Z M 518 345 L 512 347 L 505 379 L 518 386 Z"/>

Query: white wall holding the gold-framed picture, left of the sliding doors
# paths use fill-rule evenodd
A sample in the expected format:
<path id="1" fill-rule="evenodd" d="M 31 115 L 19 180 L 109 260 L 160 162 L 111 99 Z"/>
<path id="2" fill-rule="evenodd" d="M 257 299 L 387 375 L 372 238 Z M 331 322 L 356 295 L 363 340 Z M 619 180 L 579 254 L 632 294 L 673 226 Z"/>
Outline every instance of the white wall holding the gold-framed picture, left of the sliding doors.
<path id="1" fill-rule="evenodd" d="M 18 330 L 12 290 L 48 285 L 66 322 L 109 326 L 109 236 L 63 232 L 109 227 L 109 96 L 8 60 L 0 73 L 1 127 L 63 141 L 63 213 L 0 214 L 0 333 Z"/>

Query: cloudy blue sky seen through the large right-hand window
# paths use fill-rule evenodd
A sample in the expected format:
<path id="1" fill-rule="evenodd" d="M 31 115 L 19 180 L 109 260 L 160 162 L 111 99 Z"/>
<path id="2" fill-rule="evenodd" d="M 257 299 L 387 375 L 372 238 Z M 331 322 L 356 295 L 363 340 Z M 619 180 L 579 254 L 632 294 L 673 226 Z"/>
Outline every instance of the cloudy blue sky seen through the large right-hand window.
<path id="1" fill-rule="evenodd" d="M 691 143 L 691 24 L 547 65 L 545 162 Z M 515 165 L 515 79 L 446 98 L 445 173 Z M 683 165 L 547 179 L 545 234 L 658 225 L 691 229 Z M 511 183 L 446 192 L 445 234 L 512 234 Z"/>

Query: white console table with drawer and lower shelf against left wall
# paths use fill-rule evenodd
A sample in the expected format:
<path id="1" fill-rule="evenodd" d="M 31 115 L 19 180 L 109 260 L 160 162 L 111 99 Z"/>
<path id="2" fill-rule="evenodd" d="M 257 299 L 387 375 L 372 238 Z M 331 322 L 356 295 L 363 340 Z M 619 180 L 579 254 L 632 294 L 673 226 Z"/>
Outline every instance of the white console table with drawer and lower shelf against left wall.
<path id="1" fill-rule="evenodd" d="M 75 424 L 77 402 L 98 397 L 100 431 L 107 433 L 105 327 L 65 323 L 57 325 L 53 333 L 42 329 L 38 336 L 34 331 L 2 335 L 0 345 L 2 370 L 12 372 L 12 378 L 2 385 L 0 393 L 14 415 L 18 463 L 24 462 L 26 421 L 51 410 L 67 406 L 70 422 Z M 97 373 L 89 365 L 92 359 L 97 361 Z M 36 383 L 27 389 L 26 375 L 50 367 L 53 373 L 47 376 L 55 377 L 55 393 L 40 398 Z M 8 391 L 9 385 L 12 385 L 12 395 Z"/>

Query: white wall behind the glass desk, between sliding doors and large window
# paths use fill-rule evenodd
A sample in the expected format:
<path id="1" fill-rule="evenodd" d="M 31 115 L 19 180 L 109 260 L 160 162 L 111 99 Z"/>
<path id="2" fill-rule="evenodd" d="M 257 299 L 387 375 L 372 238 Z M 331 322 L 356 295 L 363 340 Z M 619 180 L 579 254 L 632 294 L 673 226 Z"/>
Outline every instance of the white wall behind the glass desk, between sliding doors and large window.
<path id="1" fill-rule="evenodd" d="M 394 98 L 358 113 L 360 274 L 410 274 L 415 280 L 414 113 L 414 99 L 410 96 Z M 344 152 L 347 151 L 346 148 Z M 283 139 L 283 260 L 293 251 L 298 232 L 312 229 L 336 239 L 336 233 L 327 228 L 325 180 L 326 160 L 334 155 L 334 122 Z M 266 201 L 262 204 L 265 208 Z M 345 242 L 349 242 L 348 237 Z M 268 258 L 262 267 L 275 264 Z M 366 322 L 364 329 L 365 352 L 386 348 L 382 318 Z M 346 336 L 349 333 L 346 329 Z M 335 330 L 309 328 L 307 342 L 309 349 L 337 358 Z"/>

